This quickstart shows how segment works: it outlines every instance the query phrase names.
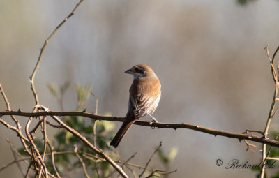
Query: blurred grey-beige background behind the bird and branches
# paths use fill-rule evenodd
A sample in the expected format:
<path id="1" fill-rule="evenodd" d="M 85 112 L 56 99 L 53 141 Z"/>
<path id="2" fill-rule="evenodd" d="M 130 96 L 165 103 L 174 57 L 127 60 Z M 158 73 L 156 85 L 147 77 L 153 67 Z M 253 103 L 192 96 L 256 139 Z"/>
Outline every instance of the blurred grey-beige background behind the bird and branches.
<path id="1" fill-rule="evenodd" d="M 0 1 L 0 83 L 13 110 L 33 109 L 29 76 L 40 47 L 77 2 Z M 77 105 L 75 84 L 91 84 L 99 114 L 124 116 L 133 79 L 123 72 L 147 64 L 162 84 L 153 114 L 158 121 L 236 133 L 263 131 L 274 89 L 264 47 L 270 44 L 273 54 L 279 45 L 278 8 L 276 0 L 84 1 L 45 48 L 35 80 L 40 104 L 60 110 L 47 84 L 70 81 L 65 110 Z M 0 110 L 6 110 L 0 101 Z M 91 97 L 87 110 L 94 107 Z M 270 130 L 278 128 L 275 117 Z M 19 145 L 15 133 L 0 129 L 1 167 L 13 161 L 5 138 Z M 133 126 L 116 151 L 123 159 L 137 152 L 133 162 L 144 165 L 160 141 L 166 152 L 178 148 L 171 165 L 178 172 L 169 177 L 255 177 L 248 169 L 218 167 L 216 159 L 259 164 L 262 156 L 260 144 L 252 153 L 236 139 L 143 126 Z M 153 165 L 160 168 L 156 161 Z M 14 165 L 0 177 L 20 177 L 20 172 Z"/>

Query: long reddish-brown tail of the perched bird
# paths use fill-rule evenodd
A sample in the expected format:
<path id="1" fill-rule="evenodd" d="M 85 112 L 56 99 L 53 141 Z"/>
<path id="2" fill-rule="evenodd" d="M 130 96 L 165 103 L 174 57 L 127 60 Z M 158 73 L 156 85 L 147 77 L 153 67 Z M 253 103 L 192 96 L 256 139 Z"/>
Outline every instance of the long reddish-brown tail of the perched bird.
<path id="1" fill-rule="evenodd" d="M 112 139 L 112 142 L 110 142 L 110 145 L 116 148 L 119 145 L 119 142 L 124 137 L 124 135 L 128 132 L 130 126 L 132 126 L 135 121 L 135 119 L 126 118 L 126 121 L 123 122 L 121 128 L 119 128 L 119 131 L 116 133 L 114 139 Z"/>

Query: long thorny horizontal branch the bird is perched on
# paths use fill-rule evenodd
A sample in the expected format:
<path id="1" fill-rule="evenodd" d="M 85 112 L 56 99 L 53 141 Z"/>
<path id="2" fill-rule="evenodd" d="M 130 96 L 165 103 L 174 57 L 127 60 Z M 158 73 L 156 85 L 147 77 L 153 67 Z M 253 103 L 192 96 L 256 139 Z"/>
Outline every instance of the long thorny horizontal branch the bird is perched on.
<path id="1" fill-rule="evenodd" d="M 81 117 L 88 117 L 91 119 L 98 119 L 100 121 L 120 121 L 123 122 L 123 117 L 107 117 L 107 116 L 101 116 L 97 114 L 91 114 L 89 112 L 78 112 L 78 111 L 68 111 L 68 112 L 58 112 L 58 111 L 49 111 L 49 112 L 17 112 L 17 111 L 1 111 L 0 116 L 4 115 L 18 115 L 18 116 L 24 116 L 24 117 L 39 117 L 39 116 L 81 116 Z M 253 134 L 243 134 L 243 133 L 233 133 L 228 131 L 219 131 L 216 129 L 206 128 L 203 126 L 197 126 L 193 124 L 187 124 L 187 123 L 153 123 L 152 126 L 150 125 L 149 121 L 135 121 L 135 125 L 140 126 L 149 126 L 149 127 L 155 127 L 155 128 L 173 128 L 174 130 L 178 128 L 186 128 L 193 131 L 199 131 L 203 133 L 209 133 L 211 135 L 217 136 L 223 136 L 227 138 L 236 138 L 238 140 L 251 140 L 253 142 L 260 142 L 264 144 L 269 144 L 271 146 L 279 147 L 279 142 L 276 140 L 271 140 L 269 138 L 263 138 L 259 137 L 257 135 Z"/>

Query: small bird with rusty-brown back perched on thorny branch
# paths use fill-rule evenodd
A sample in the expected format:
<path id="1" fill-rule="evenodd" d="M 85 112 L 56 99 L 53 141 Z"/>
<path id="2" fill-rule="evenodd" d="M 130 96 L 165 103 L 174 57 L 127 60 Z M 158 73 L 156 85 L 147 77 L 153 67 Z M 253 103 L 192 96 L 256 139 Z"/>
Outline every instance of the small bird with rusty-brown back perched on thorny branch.
<path id="1" fill-rule="evenodd" d="M 125 71 L 133 75 L 133 83 L 129 89 L 128 112 L 119 131 L 116 133 L 110 145 L 117 147 L 130 126 L 135 121 L 149 115 L 153 122 L 158 122 L 151 114 L 156 110 L 161 97 L 161 84 L 151 67 L 138 64 Z"/>

